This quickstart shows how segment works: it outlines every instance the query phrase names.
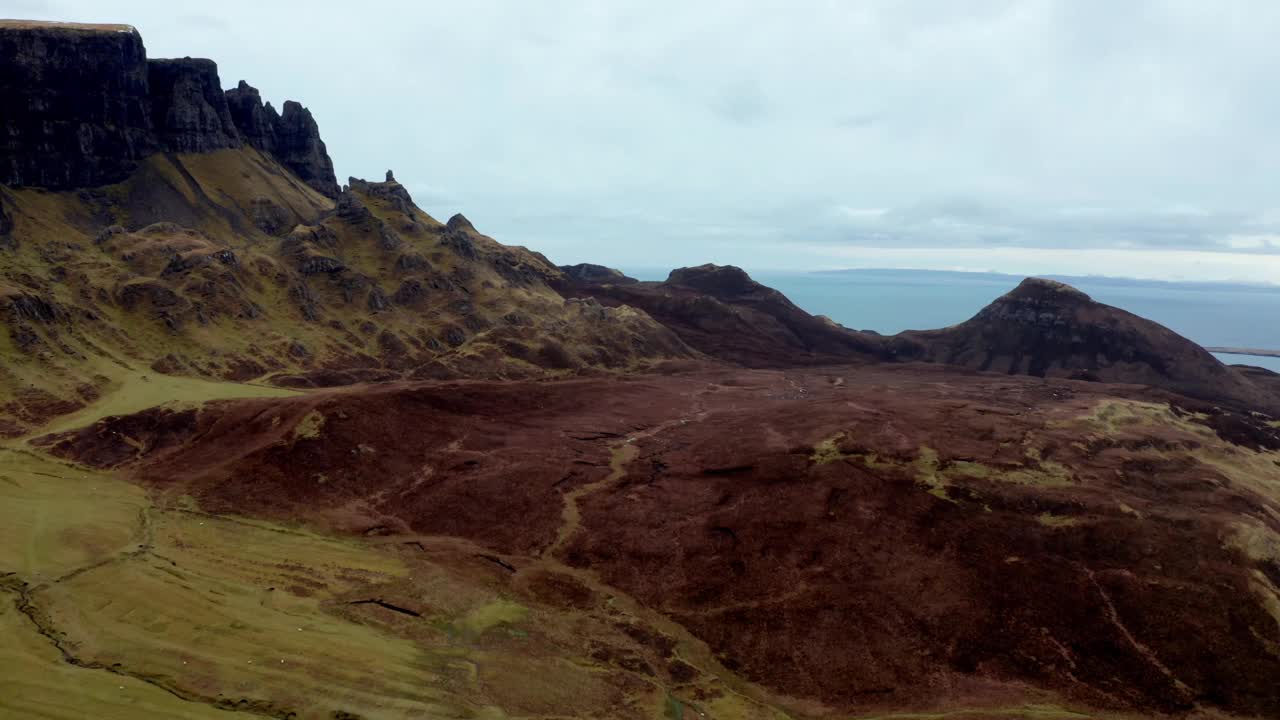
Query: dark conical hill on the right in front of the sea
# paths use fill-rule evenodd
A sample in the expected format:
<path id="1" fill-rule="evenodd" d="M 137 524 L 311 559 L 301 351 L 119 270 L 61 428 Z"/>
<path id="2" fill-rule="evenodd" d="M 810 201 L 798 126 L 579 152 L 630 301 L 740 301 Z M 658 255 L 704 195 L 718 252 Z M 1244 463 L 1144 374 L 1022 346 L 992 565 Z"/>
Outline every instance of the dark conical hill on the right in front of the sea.
<path id="1" fill-rule="evenodd" d="M 1194 342 L 1050 279 L 1027 278 L 959 325 L 906 332 L 892 342 L 902 356 L 977 370 L 1142 383 L 1275 405 L 1270 393 Z"/>

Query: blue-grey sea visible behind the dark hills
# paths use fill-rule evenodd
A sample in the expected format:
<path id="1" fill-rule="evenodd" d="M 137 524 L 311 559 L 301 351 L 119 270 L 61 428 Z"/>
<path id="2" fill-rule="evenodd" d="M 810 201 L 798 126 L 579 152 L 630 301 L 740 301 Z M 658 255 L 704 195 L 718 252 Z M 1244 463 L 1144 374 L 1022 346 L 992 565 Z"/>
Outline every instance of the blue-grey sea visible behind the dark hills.
<path id="1" fill-rule="evenodd" d="M 640 279 L 666 279 L 666 272 L 632 270 Z M 841 270 L 824 273 L 753 272 L 792 302 L 837 323 L 884 334 L 954 325 L 972 318 L 1021 277 L 936 270 Z M 1280 350 L 1280 287 L 1230 283 L 1174 283 L 1119 278 L 1057 278 L 1155 320 L 1203 346 Z M 1219 355 L 1280 373 L 1280 357 Z"/>

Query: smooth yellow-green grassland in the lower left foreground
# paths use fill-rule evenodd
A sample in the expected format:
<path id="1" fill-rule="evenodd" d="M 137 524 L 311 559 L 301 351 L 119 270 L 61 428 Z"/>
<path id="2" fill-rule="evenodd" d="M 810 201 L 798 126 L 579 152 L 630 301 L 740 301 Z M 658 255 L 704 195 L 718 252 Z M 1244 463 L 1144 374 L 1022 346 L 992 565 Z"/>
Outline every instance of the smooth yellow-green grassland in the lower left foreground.
<path id="1" fill-rule="evenodd" d="M 141 382 L 113 386 L 77 419 L 147 402 L 131 392 Z M 279 392 L 164 382 L 148 397 Z M 215 518 L 186 502 L 159 507 L 122 477 L 18 439 L 0 457 L 0 714 L 662 717 L 714 705 L 731 711 L 722 717 L 781 716 L 736 693 L 698 703 L 691 688 L 593 660 L 582 633 L 614 646 L 627 638 L 517 597 L 457 541 L 407 547 Z M 625 598 L 613 611 L 644 623 L 641 612 Z"/>

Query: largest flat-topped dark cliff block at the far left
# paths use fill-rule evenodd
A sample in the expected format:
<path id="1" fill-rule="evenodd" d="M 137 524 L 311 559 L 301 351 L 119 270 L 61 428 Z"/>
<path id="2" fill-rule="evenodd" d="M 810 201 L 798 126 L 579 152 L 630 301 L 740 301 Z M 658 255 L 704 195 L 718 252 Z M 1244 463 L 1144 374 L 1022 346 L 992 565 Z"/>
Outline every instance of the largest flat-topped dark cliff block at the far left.
<path id="1" fill-rule="evenodd" d="M 116 182 L 156 149 L 129 26 L 0 22 L 0 184 Z"/>

